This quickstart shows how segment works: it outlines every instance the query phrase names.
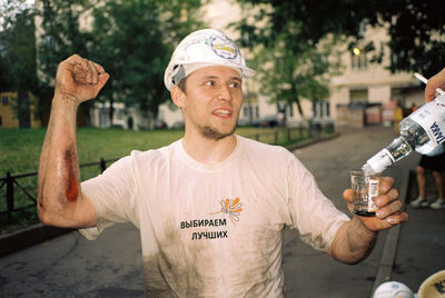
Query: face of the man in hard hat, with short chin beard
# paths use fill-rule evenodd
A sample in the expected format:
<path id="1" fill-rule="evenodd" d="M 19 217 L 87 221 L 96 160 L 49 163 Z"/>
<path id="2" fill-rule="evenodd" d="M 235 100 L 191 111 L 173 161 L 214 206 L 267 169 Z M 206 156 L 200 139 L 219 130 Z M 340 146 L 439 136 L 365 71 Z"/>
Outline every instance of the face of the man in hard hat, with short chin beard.
<path id="1" fill-rule="evenodd" d="M 228 67 L 204 67 L 186 81 L 181 101 L 186 133 L 219 140 L 234 133 L 243 105 L 241 77 Z"/>

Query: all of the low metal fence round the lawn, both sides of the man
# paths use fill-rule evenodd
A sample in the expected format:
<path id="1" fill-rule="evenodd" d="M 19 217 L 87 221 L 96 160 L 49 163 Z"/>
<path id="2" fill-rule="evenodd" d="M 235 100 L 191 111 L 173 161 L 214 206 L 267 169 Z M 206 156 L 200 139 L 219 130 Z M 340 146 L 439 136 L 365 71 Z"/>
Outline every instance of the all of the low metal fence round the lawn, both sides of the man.
<path id="1" fill-rule="evenodd" d="M 320 133 L 323 133 L 323 130 L 324 129 L 319 127 L 276 128 L 274 131 L 264 131 L 261 133 L 254 133 L 247 137 L 267 143 L 283 145 L 298 141 L 299 139 L 317 138 L 320 136 Z M 99 166 L 100 172 L 103 172 L 107 168 L 107 163 L 116 160 L 117 159 L 106 160 L 101 158 L 96 162 L 79 165 L 79 168 Z M 11 175 L 11 172 L 8 171 L 6 177 L 0 178 L 0 216 L 7 215 L 7 217 L 10 218 L 12 212 L 37 206 L 37 172 Z M 32 178 L 32 180 L 21 180 L 21 182 L 18 181 L 19 179 L 24 178 Z M 21 191 L 22 196 L 18 197 L 18 191 Z"/>

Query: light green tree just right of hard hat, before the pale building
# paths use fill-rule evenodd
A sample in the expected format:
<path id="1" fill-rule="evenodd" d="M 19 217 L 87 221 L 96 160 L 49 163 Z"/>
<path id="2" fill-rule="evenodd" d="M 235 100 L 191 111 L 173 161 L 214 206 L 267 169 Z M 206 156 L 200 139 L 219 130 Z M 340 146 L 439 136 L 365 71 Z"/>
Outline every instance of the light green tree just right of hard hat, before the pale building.
<path id="1" fill-rule="evenodd" d="M 305 27 L 303 21 L 274 23 L 270 7 L 255 9 L 248 3 L 243 6 L 244 11 L 251 13 L 233 26 L 241 32 L 241 46 L 254 52 L 253 62 L 263 82 L 260 92 L 271 98 L 278 109 L 295 102 L 305 118 L 300 99 L 326 99 L 329 77 L 338 72 L 339 60 L 334 59 L 337 57 L 334 48 L 337 38 L 324 36 L 315 43 L 308 42 L 300 38 Z M 258 26 L 258 21 L 264 26 Z"/>

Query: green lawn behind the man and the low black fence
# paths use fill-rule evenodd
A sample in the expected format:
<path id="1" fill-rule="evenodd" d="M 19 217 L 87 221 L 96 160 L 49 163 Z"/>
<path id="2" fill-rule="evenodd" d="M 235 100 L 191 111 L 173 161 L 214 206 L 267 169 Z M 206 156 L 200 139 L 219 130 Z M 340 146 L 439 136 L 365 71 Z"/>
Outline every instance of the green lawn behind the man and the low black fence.
<path id="1" fill-rule="evenodd" d="M 46 129 L 0 129 L 0 178 L 38 170 Z M 263 142 L 274 143 L 274 129 L 238 128 L 237 133 Z M 182 129 L 130 131 L 121 129 L 79 128 L 77 143 L 79 163 L 127 156 L 131 150 L 148 150 L 166 146 L 182 137 Z M 299 136 L 291 136 L 293 141 Z M 287 142 L 286 135 L 278 135 L 278 143 Z"/>

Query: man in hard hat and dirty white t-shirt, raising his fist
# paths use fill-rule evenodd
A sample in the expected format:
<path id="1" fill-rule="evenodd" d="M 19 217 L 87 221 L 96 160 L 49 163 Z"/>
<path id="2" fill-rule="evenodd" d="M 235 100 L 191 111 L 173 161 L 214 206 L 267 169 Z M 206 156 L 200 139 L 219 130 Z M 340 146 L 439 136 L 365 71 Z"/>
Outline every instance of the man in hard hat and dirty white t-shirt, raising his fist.
<path id="1" fill-rule="evenodd" d="M 165 74 L 184 113 L 184 138 L 134 151 L 80 183 L 76 110 L 109 74 L 79 56 L 61 62 L 40 159 L 42 222 L 93 239 L 131 221 L 140 229 L 149 297 L 284 297 L 285 227 L 337 260 L 364 259 L 378 230 L 407 220 L 394 180 L 384 178 L 376 217 L 349 219 L 294 155 L 236 136 L 243 78 L 254 74 L 222 32 L 192 32 Z M 344 198 L 350 209 L 350 189 Z"/>

